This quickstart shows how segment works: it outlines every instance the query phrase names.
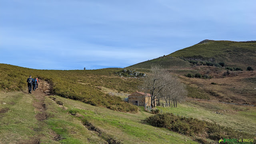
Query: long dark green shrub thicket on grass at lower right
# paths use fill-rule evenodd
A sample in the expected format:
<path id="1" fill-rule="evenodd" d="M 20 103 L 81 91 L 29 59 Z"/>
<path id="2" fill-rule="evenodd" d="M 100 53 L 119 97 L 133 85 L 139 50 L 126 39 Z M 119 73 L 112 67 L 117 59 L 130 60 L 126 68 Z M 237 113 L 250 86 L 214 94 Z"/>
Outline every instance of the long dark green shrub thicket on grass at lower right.
<path id="1" fill-rule="evenodd" d="M 145 119 L 152 126 L 164 127 L 188 136 L 200 136 L 211 140 L 222 138 L 254 138 L 253 134 L 238 132 L 226 126 L 216 123 L 198 120 L 196 118 L 186 118 L 175 116 L 172 113 L 156 114 Z M 200 139 L 202 141 L 204 139 Z M 204 143 L 207 143 L 206 141 Z"/>

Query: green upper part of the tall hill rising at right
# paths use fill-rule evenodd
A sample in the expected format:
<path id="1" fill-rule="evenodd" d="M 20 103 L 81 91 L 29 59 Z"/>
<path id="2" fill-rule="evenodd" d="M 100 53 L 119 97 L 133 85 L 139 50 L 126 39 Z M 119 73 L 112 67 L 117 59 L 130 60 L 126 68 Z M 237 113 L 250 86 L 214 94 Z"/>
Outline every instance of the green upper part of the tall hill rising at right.
<path id="1" fill-rule="evenodd" d="M 189 62 L 182 61 L 179 58 L 224 62 L 226 66 L 241 67 L 246 70 L 247 66 L 256 67 L 256 41 L 203 40 L 194 46 L 153 60 L 134 64 L 128 68 L 149 68 L 151 64 L 160 64 L 164 68 L 188 68 L 191 66 Z"/>

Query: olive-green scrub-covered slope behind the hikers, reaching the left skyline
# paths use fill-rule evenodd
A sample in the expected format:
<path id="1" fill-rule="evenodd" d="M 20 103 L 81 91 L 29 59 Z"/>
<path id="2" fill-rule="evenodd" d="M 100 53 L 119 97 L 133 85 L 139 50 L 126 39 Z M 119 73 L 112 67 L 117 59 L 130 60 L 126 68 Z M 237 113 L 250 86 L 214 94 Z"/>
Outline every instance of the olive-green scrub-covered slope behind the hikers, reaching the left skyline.
<path id="1" fill-rule="evenodd" d="M 93 106 L 103 106 L 121 112 L 137 112 L 137 107 L 125 103 L 120 97 L 104 94 L 97 86 L 104 86 L 120 92 L 133 92 L 138 89 L 137 79 L 122 79 L 115 72 L 121 69 L 101 70 L 34 70 L 8 64 L 0 64 L 0 89 L 25 91 L 26 80 L 32 77 L 48 81 L 52 93 L 64 98 L 79 100 Z"/>

